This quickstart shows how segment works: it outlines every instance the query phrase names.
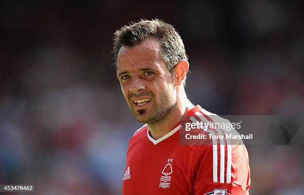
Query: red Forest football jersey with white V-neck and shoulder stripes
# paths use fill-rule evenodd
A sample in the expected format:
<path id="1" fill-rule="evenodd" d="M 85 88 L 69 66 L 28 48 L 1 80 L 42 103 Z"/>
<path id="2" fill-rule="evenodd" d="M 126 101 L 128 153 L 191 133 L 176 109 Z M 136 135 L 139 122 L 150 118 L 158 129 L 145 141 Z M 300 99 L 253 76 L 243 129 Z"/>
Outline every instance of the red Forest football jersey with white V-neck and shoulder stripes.
<path id="1" fill-rule="evenodd" d="M 187 116 L 195 122 L 204 120 L 202 117 L 211 120 L 210 114 L 197 105 Z M 127 151 L 123 195 L 249 195 L 246 147 L 226 140 L 183 145 L 181 127 L 178 123 L 157 140 L 147 125 L 134 133 Z"/>

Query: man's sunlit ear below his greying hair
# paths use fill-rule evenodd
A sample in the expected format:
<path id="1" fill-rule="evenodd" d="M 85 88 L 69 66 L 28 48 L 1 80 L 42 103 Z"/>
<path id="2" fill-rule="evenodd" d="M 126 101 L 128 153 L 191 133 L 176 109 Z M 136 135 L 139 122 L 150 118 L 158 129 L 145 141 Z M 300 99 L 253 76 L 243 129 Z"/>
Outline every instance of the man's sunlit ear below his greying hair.
<path id="1" fill-rule="evenodd" d="M 173 83 L 175 86 L 182 85 L 189 69 L 189 63 L 186 60 L 180 60 L 174 67 Z"/>

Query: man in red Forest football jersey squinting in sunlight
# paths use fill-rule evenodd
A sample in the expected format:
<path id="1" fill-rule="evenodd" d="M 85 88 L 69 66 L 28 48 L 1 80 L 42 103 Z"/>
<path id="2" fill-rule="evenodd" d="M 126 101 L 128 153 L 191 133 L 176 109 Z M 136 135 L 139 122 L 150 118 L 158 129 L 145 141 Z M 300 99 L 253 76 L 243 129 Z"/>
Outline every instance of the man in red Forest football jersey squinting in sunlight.
<path id="1" fill-rule="evenodd" d="M 184 87 L 189 63 L 175 29 L 158 19 L 141 20 L 115 32 L 113 49 L 123 95 L 134 118 L 146 123 L 129 143 L 123 195 L 247 195 L 244 145 L 179 141 L 181 121 L 220 117 L 188 100 Z"/>

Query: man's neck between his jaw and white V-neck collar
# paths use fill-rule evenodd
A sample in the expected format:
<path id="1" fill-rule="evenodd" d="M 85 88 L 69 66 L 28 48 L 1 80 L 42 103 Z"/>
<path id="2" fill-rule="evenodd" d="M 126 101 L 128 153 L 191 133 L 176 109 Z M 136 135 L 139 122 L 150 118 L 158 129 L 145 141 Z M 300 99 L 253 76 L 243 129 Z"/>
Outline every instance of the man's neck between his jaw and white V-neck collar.
<path id="1" fill-rule="evenodd" d="M 183 102 L 183 103 L 182 103 Z M 147 124 L 154 139 L 158 139 L 168 132 L 181 120 L 182 116 L 188 113 L 194 105 L 188 100 L 186 95 L 181 97 L 176 106 L 162 120 L 157 123 Z"/>

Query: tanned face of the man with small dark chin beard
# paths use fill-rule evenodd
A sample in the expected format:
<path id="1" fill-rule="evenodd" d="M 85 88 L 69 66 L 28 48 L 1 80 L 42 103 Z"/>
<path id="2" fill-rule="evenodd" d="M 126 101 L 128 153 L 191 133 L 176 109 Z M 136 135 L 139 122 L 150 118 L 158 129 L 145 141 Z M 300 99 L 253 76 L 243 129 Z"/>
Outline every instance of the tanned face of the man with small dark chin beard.
<path id="1" fill-rule="evenodd" d="M 117 75 L 122 92 L 134 118 L 139 122 L 155 123 L 176 104 L 172 74 L 160 56 L 155 39 L 145 39 L 131 48 L 118 52 Z"/>

